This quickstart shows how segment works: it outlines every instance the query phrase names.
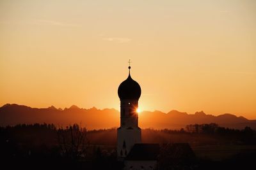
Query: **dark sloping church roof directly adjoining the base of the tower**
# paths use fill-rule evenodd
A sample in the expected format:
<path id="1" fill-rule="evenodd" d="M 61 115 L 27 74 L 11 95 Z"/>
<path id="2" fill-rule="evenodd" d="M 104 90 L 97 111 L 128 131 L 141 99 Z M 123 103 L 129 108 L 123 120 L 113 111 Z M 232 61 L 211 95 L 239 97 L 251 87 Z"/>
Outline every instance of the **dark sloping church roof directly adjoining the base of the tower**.
<path id="1" fill-rule="evenodd" d="M 136 143 L 125 160 L 157 160 L 160 147 L 154 143 Z"/>

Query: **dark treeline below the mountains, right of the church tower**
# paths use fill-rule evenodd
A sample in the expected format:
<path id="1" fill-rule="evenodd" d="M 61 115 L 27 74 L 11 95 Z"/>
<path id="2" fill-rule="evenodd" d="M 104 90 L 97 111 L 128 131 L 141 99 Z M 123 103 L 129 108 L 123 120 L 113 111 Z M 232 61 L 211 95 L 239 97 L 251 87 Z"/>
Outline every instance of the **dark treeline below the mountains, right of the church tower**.
<path id="1" fill-rule="evenodd" d="M 146 143 L 189 143 L 190 145 L 241 144 L 256 145 L 256 131 L 250 127 L 230 129 L 218 124 L 186 125 L 185 129 L 143 129 Z"/>

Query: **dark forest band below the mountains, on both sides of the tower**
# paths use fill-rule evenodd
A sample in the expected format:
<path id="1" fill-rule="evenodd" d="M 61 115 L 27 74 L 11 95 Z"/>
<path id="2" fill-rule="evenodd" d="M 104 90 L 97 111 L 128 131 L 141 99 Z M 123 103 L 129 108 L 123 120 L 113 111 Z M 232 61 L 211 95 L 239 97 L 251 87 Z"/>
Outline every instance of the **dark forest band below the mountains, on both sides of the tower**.
<path id="1" fill-rule="evenodd" d="M 0 127 L 1 141 L 19 143 L 29 146 L 58 146 L 60 131 L 70 131 L 77 127 L 86 133 L 90 145 L 116 145 L 116 128 L 86 130 L 74 124 L 67 127 L 56 127 L 54 124 L 19 124 Z M 59 133 L 58 133 L 59 132 Z M 60 139 L 60 138 L 59 138 Z M 143 143 L 190 143 L 190 145 L 211 145 L 220 143 L 256 144 L 256 131 L 250 127 L 242 130 L 220 127 L 217 124 L 186 125 L 180 130 L 143 129 Z"/>

